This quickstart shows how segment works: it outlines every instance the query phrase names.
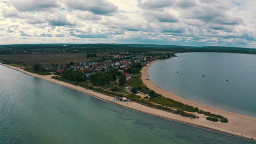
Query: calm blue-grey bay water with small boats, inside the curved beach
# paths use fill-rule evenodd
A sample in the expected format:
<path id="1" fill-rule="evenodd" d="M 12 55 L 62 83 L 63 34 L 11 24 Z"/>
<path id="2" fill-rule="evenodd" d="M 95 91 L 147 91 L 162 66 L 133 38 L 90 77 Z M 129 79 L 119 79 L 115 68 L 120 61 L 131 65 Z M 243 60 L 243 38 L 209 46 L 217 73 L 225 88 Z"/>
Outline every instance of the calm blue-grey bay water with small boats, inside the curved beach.
<path id="1" fill-rule="evenodd" d="M 177 56 L 150 66 L 149 77 L 156 85 L 201 104 L 256 117 L 256 55 L 193 52 Z"/>

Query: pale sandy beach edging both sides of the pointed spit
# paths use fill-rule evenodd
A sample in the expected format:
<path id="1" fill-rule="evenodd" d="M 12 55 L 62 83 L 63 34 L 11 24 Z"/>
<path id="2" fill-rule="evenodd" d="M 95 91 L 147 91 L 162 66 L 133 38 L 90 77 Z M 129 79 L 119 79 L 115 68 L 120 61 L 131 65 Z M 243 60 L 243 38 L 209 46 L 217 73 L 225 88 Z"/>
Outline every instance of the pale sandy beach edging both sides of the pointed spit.
<path id="1" fill-rule="evenodd" d="M 38 77 L 39 79 L 44 79 L 44 80 L 47 80 L 49 82 L 55 83 L 57 85 L 61 85 L 61 86 L 65 86 L 65 87 L 68 87 L 68 88 L 75 89 L 79 92 L 89 94 L 93 97 L 108 101 L 108 102 L 113 103 L 113 104 L 117 104 L 119 106 L 126 107 L 126 108 L 131 109 L 131 110 L 135 110 L 135 111 L 142 112 L 142 113 L 147 113 L 149 115 L 165 118 L 165 119 L 168 119 L 168 120 L 171 120 L 171 121 L 176 121 L 176 122 L 181 122 L 181 123 L 185 123 L 185 124 L 189 124 L 189 125 L 194 125 L 196 127 L 217 131 L 219 133 L 228 134 L 228 135 L 231 135 L 231 136 L 241 137 L 241 138 L 247 139 L 247 140 L 251 140 L 251 137 L 254 138 L 253 140 L 256 139 L 256 118 L 249 117 L 249 116 L 243 116 L 243 115 L 240 115 L 240 114 L 227 112 L 227 111 L 215 109 L 215 108 L 210 107 L 210 106 L 195 103 L 194 101 L 190 101 L 190 100 L 184 99 L 182 97 L 179 97 L 178 95 L 174 95 L 171 92 L 167 92 L 167 91 L 165 92 L 164 89 L 160 89 L 159 87 L 154 85 L 154 83 L 152 81 L 146 80 L 146 79 L 149 79 L 148 72 L 147 72 L 148 67 L 151 64 L 155 63 L 155 62 L 158 62 L 158 61 L 154 61 L 154 62 L 149 63 L 146 67 L 143 67 L 143 69 L 141 71 L 142 72 L 143 83 L 145 83 L 150 89 L 153 89 L 156 93 L 160 93 L 160 94 L 163 93 L 162 94 L 163 96 L 167 96 L 167 97 L 172 98 L 174 100 L 181 101 L 184 104 L 189 104 L 189 105 L 193 105 L 193 106 L 197 105 L 197 107 L 199 107 L 199 109 L 209 111 L 209 112 L 212 112 L 212 113 L 217 113 L 217 114 L 221 113 L 224 117 L 227 117 L 230 122 L 229 123 L 220 123 L 220 122 L 207 121 L 205 119 L 206 116 L 200 115 L 200 114 L 198 114 L 198 116 L 200 118 L 190 119 L 188 117 L 174 115 L 173 113 L 170 113 L 170 112 L 153 109 L 151 107 L 147 107 L 147 106 L 135 103 L 135 102 L 129 102 L 129 105 L 125 105 L 125 103 L 122 103 L 121 101 L 114 102 L 113 97 L 110 97 L 110 96 L 107 96 L 107 95 L 104 95 L 104 94 L 101 94 L 101 93 L 94 92 L 90 89 L 75 86 L 75 85 L 72 85 L 70 83 L 66 83 L 66 82 L 63 82 L 63 81 L 58 81 L 58 80 L 55 80 L 55 79 L 51 79 L 51 76 L 53 76 L 53 75 L 43 76 L 43 75 L 33 74 L 33 73 L 30 73 L 30 72 L 25 71 L 25 70 L 20 69 L 20 68 L 16 68 L 16 67 L 13 67 L 13 66 L 10 66 L 10 65 L 5 65 L 5 64 L 2 64 L 2 63 L 0 63 L 0 64 L 3 65 L 4 67 L 8 67 L 10 69 L 18 70 L 21 73 L 24 73 L 24 74 L 27 74 L 27 75 L 30 75 L 30 76 L 34 76 L 34 77 Z M 197 115 L 197 113 L 196 113 L 196 115 Z M 235 133 L 232 133 L 232 131 L 235 131 Z M 241 136 L 241 135 L 243 135 L 243 136 Z"/>

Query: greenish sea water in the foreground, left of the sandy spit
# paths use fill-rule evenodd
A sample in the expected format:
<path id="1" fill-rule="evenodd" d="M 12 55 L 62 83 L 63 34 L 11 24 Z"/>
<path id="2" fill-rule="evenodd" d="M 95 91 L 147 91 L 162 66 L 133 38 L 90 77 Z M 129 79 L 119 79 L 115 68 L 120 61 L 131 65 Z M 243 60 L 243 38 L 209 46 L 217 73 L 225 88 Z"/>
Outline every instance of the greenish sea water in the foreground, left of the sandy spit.
<path id="1" fill-rule="evenodd" d="M 0 65 L 0 143 L 253 143 L 125 109 Z"/>

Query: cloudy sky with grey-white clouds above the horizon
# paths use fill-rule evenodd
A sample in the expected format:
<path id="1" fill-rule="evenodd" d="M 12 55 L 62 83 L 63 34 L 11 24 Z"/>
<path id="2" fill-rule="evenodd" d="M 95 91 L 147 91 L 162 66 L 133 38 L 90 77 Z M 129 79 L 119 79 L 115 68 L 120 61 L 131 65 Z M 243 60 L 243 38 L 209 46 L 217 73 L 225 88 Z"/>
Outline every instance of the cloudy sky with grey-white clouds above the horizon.
<path id="1" fill-rule="evenodd" d="M 0 44 L 256 48 L 255 0 L 0 0 Z"/>

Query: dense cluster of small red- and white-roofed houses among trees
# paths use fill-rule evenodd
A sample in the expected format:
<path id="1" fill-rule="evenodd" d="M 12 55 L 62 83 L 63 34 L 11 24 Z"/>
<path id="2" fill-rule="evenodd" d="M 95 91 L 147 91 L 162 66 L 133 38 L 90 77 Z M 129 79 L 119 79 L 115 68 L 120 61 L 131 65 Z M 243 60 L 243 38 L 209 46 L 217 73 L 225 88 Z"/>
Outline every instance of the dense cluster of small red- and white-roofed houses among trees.
<path id="1" fill-rule="evenodd" d="M 110 69 L 118 69 L 121 73 L 129 75 L 129 73 L 124 73 L 127 69 L 131 68 L 133 63 L 141 63 L 146 65 L 151 61 L 157 59 L 162 59 L 163 56 L 148 56 L 145 53 L 125 53 L 125 55 L 108 55 L 106 53 L 104 56 L 99 57 L 99 61 L 95 62 L 78 62 L 74 65 L 59 65 L 56 70 L 57 75 L 61 75 L 62 70 L 72 69 L 80 70 L 85 76 L 95 73 L 96 71 L 108 71 Z"/>

